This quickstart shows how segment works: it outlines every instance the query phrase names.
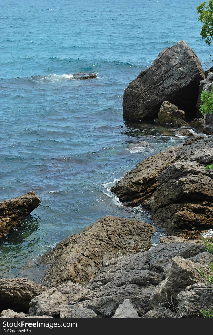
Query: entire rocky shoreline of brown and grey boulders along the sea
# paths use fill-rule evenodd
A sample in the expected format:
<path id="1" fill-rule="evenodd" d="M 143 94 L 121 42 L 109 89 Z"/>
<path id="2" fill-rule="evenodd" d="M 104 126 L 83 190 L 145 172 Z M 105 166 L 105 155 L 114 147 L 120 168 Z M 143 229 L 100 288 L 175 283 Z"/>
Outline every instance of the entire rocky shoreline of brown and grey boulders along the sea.
<path id="1" fill-rule="evenodd" d="M 151 210 L 169 236 L 151 247 L 152 225 L 100 218 L 40 258 L 44 285 L 0 279 L 1 318 L 198 318 L 213 307 L 213 245 L 202 238 L 213 228 L 213 119 L 199 112 L 212 82 L 180 41 L 124 91 L 125 119 L 158 117 L 182 136 L 189 127 L 202 133 L 141 161 L 111 188 L 125 206 Z M 0 237 L 39 204 L 35 192 L 0 202 Z"/>

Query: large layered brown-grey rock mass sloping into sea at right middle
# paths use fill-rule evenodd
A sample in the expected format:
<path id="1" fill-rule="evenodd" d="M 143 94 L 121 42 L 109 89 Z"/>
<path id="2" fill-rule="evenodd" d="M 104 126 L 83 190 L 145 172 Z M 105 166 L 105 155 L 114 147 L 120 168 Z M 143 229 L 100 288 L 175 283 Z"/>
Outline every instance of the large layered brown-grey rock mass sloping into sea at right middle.
<path id="1" fill-rule="evenodd" d="M 196 138 L 195 138 L 196 139 Z M 143 204 L 171 235 L 198 238 L 213 227 L 211 137 L 192 139 L 138 163 L 111 191 L 128 205 Z"/>

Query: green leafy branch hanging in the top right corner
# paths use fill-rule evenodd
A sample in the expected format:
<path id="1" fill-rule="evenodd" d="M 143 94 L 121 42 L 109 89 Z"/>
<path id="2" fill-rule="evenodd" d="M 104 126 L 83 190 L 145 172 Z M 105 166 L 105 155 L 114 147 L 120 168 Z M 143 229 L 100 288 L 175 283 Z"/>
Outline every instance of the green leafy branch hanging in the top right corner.
<path id="1" fill-rule="evenodd" d="M 201 26 L 201 37 L 205 39 L 206 44 L 210 45 L 213 40 L 213 0 L 209 0 L 208 5 L 206 1 L 197 7 L 199 20 L 203 23 Z"/>

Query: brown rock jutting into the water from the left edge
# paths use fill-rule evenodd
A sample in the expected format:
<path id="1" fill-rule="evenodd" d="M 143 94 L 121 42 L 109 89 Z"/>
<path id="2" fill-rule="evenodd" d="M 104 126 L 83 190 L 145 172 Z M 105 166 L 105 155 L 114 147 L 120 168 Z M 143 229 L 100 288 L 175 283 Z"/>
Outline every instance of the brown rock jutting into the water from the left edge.
<path id="1" fill-rule="evenodd" d="M 20 226 L 23 217 L 30 214 L 40 203 L 39 197 L 33 191 L 14 199 L 0 201 L 0 238 Z"/>

